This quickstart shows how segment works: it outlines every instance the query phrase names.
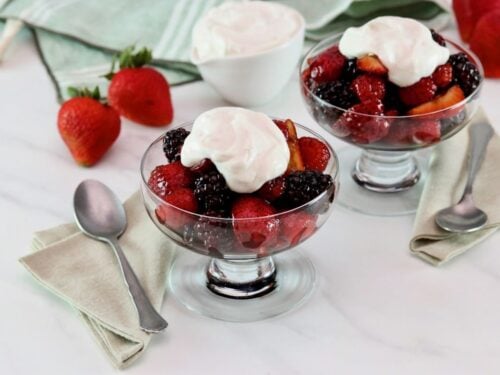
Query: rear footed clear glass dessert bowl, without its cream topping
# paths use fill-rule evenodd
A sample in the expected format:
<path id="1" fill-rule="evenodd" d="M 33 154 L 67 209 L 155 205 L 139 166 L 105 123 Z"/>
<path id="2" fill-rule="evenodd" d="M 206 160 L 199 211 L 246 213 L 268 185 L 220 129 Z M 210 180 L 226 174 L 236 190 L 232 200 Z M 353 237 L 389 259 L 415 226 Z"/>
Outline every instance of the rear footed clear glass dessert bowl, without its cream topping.
<path id="1" fill-rule="evenodd" d="M 339 152 L 343 173 L 339 204 L 372 215 L 395 216 L 416 211 L 427 168 L 425 152 L 459 132 L 474 116 L 479 104 L 479 86 L 465 99 L 447 108 L 419 115 L 377 116 L 334 106 L 314 94 L 304 82 L 309 62 L 324 50 L 338 45 L 342 35 L 327 38 L 304 58 L 301 93 L 316 122 L 335 137 L 356 146 Z M 446 40 L 450 54 L 464 52 L 484 77 L 479 59 L 458 44 Z M 355 128 L 366 131 L 353 131 Z M 450 155 L 453 157 L 453 155 Z"/>

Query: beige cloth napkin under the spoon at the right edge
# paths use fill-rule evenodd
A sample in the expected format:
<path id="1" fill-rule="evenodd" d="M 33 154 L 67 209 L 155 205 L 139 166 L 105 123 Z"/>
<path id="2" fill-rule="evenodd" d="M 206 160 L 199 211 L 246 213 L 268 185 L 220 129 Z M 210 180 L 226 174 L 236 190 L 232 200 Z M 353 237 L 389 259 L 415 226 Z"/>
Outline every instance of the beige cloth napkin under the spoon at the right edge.
<path id="1" fill-rule="evenodd" d="M 471 121 L 489 121 L 479 108 Z M 434 150 L 429 176 L 420 198 L 410 250 L 440 265 L 491 236 L 500 226 L 500 138 L 491 139 L 483 165 L 473 187 L 476 205 L 488 214 L 488 225 L 469 234 L 453 234 L 434 223 L 440 209 L 456 203 L 462 196 L 468 163 L 469 128 L 465 128 Z"/>

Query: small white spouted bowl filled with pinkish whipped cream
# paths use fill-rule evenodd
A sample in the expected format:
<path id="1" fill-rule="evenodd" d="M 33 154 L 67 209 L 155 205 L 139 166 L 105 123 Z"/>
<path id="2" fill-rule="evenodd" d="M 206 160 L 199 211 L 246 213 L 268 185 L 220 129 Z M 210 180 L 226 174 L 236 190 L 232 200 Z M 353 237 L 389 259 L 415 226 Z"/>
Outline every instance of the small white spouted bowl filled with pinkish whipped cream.
<path id="1" fill-rule="evenodd" d="M 191 61 L 226 100 L 241 106 L 269 102 L 300 59 L 305 21 L 295 9 L 269 1 L 227 2 L 193 29 Z"/>

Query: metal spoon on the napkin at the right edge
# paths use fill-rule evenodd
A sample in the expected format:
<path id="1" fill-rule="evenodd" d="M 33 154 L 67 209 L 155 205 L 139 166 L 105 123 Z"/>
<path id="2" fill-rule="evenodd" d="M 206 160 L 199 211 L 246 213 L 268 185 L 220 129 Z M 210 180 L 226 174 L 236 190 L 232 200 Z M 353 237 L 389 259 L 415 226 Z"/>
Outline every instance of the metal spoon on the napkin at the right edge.
<path id="1" fill-rule="evenodd" d="M 487 122 L 477 122 L 470 127 L 469 170 L 460 201 L 436 214 L 436 224 L 449 232 L 467 233 L 481 229 L 488 215 L 474 205 L 472 184 L 481 167 L 486 147 L 493 136 L 493 128 Z"/>

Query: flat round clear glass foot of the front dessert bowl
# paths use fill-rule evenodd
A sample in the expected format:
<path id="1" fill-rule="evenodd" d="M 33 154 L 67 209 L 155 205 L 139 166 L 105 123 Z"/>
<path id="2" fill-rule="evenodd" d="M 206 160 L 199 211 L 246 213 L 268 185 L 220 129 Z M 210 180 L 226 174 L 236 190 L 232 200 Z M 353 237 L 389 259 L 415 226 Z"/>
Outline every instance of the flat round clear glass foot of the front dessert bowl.
<path id="1" fill-rule="evenodd" d="M 170 270 L 170 290 L 188 310 L 210 318 L 228 322 L 271 318 L 302 305 L 315 285 L 311 261 L 293 249 L 273 256 L 276 287 L 271 292 L 248 299 L 223 297 L 207 287 L 210 258 L 179 250 Z"/>

